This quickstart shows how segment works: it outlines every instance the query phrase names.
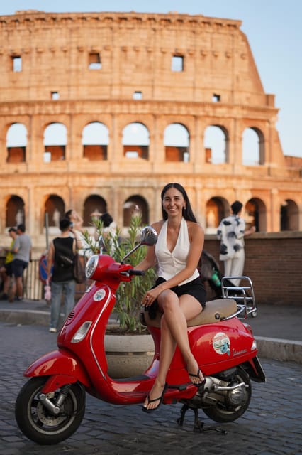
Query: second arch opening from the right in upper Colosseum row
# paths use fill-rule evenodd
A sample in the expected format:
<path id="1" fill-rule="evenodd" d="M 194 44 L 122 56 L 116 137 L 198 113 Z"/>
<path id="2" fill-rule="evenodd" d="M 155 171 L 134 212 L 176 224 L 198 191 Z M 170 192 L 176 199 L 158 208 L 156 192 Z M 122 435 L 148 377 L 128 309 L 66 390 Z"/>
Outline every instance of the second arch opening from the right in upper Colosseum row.
<path id="1" fill-rule="evenodd" d="M 223 125 L 213 124 L 206 127 L 203 146 L 206 151 L 206 163 L 229 162 L 229 134 Z"/>

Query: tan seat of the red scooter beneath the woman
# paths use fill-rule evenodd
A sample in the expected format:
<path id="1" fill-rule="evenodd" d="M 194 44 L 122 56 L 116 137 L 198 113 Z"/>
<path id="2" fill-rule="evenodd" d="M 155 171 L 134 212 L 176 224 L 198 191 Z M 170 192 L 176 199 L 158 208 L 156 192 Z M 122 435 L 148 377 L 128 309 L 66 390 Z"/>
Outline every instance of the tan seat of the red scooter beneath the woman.
<path id="1" fill-rule="evenodd" d="M 237 304 L 233 299 L 216 299 L 206 302 L 206 308 L 203 309 L 195 318 L 188 321 L 188 327 L 202 326 L 221 321 L 223 318 L 232 316 L 237 311 Z M 150 327 L 160 327 L 160 318 L 162 314 L 157 311 L 155 319 L 151 319 L 147 311 L 144 311 L 141 317 L 142 323 Z"/>

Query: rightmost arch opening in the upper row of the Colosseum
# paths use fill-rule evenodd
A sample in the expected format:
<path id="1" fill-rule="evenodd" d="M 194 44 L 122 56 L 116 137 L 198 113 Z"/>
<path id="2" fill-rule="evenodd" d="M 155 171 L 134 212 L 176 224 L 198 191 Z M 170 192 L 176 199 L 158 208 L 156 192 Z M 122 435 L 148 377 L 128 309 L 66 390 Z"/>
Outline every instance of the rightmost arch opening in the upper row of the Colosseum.
<path id="1" fill-rule="evenodd" d="M 256 127 L 245 128 L 242 133 L 242 164 L 264 164 L 264 134 Z"/>

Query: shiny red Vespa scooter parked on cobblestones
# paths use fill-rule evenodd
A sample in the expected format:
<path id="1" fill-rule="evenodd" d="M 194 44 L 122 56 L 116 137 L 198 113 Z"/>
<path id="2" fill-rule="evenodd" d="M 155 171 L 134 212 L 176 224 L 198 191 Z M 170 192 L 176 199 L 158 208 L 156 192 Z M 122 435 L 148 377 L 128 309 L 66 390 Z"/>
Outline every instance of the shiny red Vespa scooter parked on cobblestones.
<path id="1" fill-rule="evenodd" d="M 125 264 L 125 259 L 140 245 L 154 245 L 156 241 L 155 230 L 148 226 L 121 264 L 108 255 L 89 258 L 86 276 L 94 282 L 67 317 L 57 337 L 58 349 L 35 360 L 24 373 L 30 380 L 18 394 L 15 414 L 18 427 L 29 439 L 38 444 L 57 444 L 76 432 L 84 417 L 85 392 L 117 405 L 144 402 L 158 370 L 160 319 L 146 317 L 155 355 L 140 376 L 116 380 L 108 376 L 104 336 L 119 284 L 143 274 Z M 194 428 L 200 427 L 198 409 L 216 422 L 233 422 L 249 406 L 250 379 L 265 381 L 251 328 L 237 318 L 240 311 L 246 311 L 244 304 L 218 299 L 208 302 L 206 309 L 189 321 L 191 350 L 206 375 L 206 385 L 199 392 L 191 384 L 177 349 L 163 402 L 184 404 L 180 425 L 187 409 L 194 410 Z"/>

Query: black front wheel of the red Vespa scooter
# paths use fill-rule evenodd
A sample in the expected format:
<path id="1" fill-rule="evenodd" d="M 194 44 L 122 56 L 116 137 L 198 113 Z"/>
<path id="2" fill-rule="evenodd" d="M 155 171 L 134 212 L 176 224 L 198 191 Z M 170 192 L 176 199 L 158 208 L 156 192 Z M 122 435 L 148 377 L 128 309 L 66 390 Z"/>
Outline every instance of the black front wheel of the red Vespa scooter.
<path id="1" fill-rule="evenodd" d="M 40 391 L 48 377 L 31 378 L 21 388 L 15 406 L 15 416 L 21 432 L 38 444 L 57 444 L 77 431 L 85 413 L 85 391 L 75 383 L 47 393 L 51 405 L 60 408 L 52 412 L 51 405 L 40 400 Z M 60 405 L 57 399 L 60 397 Z"/>

